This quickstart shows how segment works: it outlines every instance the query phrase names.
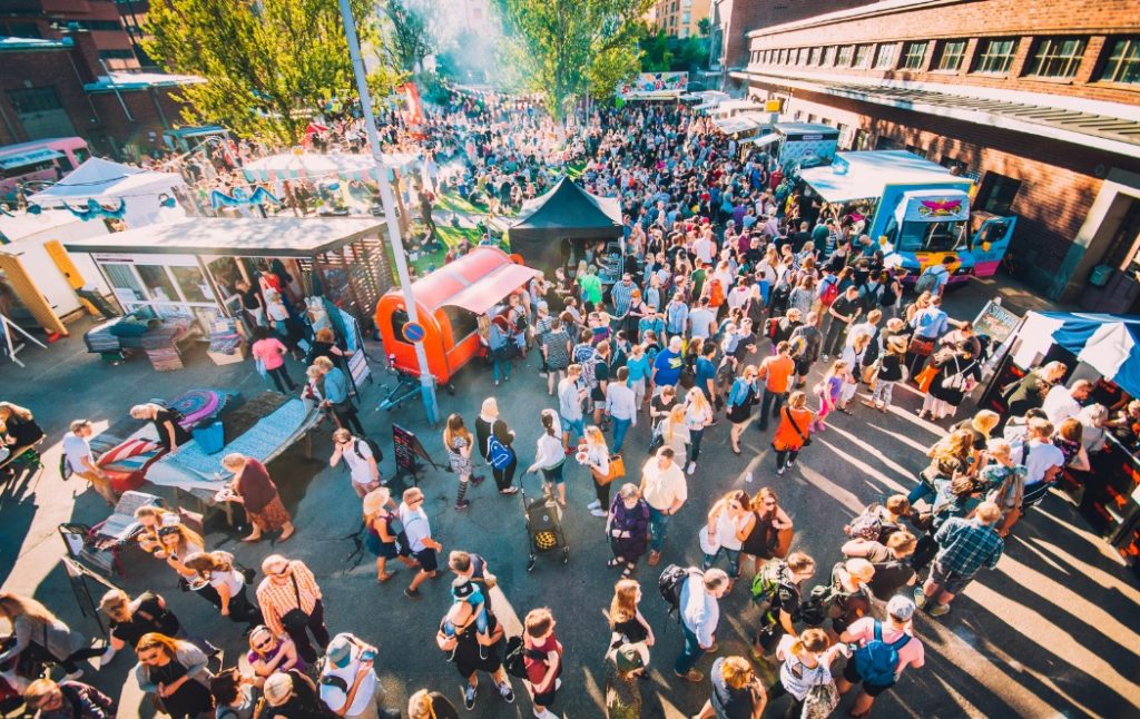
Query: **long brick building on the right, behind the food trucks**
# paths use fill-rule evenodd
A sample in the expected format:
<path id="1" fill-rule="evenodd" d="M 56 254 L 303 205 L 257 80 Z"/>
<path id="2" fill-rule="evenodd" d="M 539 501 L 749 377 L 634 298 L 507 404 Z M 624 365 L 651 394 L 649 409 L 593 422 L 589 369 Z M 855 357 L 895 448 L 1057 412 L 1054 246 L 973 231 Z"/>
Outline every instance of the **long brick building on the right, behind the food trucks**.
<path id="1" fill-rule="evenodd" d="M 1050 297 L 1140 311 L 1140 3 L 886 0 L 756 27 L 731 82 L 852 149 L 910 149 L 1018 215 Z M 1105 285 L 1090 283 L 1108 276 Z"/>

